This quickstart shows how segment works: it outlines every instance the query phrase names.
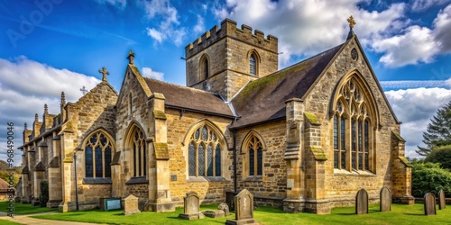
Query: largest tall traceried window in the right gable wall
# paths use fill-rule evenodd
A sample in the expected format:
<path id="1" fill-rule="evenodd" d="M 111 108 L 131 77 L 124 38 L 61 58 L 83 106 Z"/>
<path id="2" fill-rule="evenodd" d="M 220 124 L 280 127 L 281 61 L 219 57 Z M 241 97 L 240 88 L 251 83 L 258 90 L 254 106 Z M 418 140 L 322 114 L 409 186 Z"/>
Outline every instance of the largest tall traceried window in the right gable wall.
<path id="1" fill-rule="evenodd" d="M 375 121 L 364 85 L 351 76 L 338 88 L 333 116 L 334 168 L 372 171 Z"/>

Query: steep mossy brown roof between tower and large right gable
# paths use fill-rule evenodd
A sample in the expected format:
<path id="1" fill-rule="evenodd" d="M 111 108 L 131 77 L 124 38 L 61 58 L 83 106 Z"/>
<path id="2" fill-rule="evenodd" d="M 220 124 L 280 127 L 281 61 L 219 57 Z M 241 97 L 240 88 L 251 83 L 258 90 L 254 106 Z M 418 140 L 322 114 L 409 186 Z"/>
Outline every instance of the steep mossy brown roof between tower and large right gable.
<path id="1" fill-rule="evenodd" d="M 302 98 L 342 46 L 250 82 L 232 100 L 241 118 L 231 128 L 285 118 L 285 101 Z"/>

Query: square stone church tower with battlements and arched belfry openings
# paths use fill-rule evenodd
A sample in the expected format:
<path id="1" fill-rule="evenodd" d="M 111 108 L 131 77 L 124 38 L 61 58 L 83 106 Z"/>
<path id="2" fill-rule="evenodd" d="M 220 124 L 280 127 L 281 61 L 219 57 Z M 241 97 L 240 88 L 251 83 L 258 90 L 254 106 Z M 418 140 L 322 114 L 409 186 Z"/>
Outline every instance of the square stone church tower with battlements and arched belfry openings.
<path id="1" fill-rule="evenodd" d="M 227 101 L 248 81 L 278 70 L 278 39 L 226 19 L 185 47 L 187 85 Z"/>

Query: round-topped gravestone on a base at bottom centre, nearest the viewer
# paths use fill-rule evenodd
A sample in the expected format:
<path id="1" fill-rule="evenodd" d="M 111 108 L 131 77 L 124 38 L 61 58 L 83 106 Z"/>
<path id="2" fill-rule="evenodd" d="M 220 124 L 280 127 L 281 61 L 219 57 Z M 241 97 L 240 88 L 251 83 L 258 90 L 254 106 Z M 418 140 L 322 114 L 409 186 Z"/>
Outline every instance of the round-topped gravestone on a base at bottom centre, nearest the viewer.
<path id="1" fill-rule="evenodd" d="M 253 219 L 253 194 L 246 189 L 235 196 L 235 220 L 226 220 L 227 225 L 257 223 Z"/>

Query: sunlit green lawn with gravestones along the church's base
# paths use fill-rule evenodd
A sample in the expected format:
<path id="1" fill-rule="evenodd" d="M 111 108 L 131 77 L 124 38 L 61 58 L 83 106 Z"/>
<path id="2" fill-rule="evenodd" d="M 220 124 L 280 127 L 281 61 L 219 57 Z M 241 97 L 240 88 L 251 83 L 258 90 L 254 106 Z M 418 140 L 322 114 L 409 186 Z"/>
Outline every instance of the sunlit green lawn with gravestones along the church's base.
<path id="1" fill-rule="evenodd" d="M 203 210 L 216 209 L 217 204 L 201 206 Z M 57 214 L 36 215 L 33 218 L 48 220 L 71 220 L 83 222 L 96 222 L 108 224 L 224 224 L 227 219 L 234 219 L 232 213 L 227 218 L 205 218 L 202 220 L 182 220 L 179 213 L 182 208 L 175 212 L 158 213 L 145 211 L 140 214 L 123 216 L 122 211 L 75 211 Z M 450 224 L 451 205 L 445 210 L 438 210 L 437 215 L 425 216 L 423 204 L 404 205 L 393 204 L 391 211 L 379 211 L 379 204 L 370 205 L 369 214 L 355 215 L 354 207 L 335 208 L 330 215 L 317 215 L 313 213 L 285 213 L 280 209 L 272 207 L 259 207 L 254 211 L 254 218 L 261 224 Z"/>

